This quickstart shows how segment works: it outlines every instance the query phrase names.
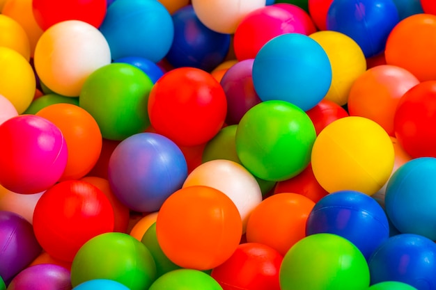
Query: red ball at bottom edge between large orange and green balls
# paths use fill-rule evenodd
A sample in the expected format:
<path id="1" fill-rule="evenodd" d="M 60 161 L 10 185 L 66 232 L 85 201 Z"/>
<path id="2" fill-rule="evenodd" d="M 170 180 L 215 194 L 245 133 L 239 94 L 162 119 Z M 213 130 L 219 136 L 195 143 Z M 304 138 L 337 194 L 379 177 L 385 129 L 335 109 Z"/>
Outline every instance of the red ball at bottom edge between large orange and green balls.
<path id="1" fill-rule="evenodd" d="M 262 243 L 242 243 L 210 275 L 223 290 L 280 290 L 279 270 L 283 257 Z"/>

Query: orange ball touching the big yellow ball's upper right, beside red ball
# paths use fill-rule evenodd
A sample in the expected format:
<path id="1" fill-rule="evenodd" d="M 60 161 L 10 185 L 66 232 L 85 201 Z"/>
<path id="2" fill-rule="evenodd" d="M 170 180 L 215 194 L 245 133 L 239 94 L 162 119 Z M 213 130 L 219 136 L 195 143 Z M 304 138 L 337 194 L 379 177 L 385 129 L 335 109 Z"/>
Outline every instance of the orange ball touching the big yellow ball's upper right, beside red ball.
<path id="1" fill-rule="evenodd" d="M 380 124 L 389 136 L 395 136 L 394 116 L 400 98 L 419 80 L 395 65 L 377 65 L 352 83 L 348 96 L 350 115 L 358 115 Z"/>

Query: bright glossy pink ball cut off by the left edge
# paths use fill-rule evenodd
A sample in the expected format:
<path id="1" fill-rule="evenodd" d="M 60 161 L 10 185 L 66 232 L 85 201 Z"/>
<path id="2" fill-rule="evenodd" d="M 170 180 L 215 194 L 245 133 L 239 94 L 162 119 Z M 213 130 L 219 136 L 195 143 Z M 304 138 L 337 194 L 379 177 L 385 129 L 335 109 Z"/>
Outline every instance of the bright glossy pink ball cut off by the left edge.
<path id="1" fill-rule="evenodd" d="M 56 125 L 19 115 L 0 125 L 0 184 L 15 193 L 40 193 L 54 185 L 67 164 L 67 145 Z"/>

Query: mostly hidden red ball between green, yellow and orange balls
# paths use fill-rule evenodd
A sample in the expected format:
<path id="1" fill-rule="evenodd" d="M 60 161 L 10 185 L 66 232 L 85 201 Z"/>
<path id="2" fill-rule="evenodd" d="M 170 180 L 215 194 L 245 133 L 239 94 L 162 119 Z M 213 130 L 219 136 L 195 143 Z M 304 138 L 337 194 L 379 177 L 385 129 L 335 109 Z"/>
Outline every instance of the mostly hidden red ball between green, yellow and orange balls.
<path id="1" fill-rule="evenodd" d="M 299 175 L 277 182 L 276 186 L 274 186 L 274 194 L 277 193 L 298 193 L 313 202 L 318 202 L 328 194 L 328 192 L 320 186 L 315 175 L 313 175 L 311 163 L 309 163 Z"/>

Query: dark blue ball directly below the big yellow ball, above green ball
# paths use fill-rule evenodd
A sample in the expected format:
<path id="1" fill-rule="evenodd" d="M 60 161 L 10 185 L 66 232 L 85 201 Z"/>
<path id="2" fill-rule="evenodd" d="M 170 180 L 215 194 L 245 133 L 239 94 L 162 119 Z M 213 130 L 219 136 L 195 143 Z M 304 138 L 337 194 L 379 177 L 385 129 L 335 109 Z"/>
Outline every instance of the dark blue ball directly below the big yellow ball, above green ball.
<path id="1" fill-rule="evenodd" d="M 369 195 L 358 191 L 337 191 L 313 207 L 306 234 L 337 234 L 356 245 L 368 259 L 389 239 L 389 222 L 383 208 Z"/>

